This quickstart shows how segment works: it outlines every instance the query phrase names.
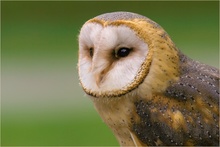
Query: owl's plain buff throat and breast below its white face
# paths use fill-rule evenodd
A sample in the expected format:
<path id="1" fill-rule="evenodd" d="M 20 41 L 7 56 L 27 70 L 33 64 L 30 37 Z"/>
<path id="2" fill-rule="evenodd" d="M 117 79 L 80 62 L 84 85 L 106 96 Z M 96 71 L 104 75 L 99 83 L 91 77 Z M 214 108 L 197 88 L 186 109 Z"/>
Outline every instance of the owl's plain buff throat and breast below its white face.
<path id="1" fill-rule="evenodd" d="M 135 115 L 134 99 L 128 97 L 93 99 L 102 120 L 111 128 L 121 146 L 142 145 L 132 133 Z"/>

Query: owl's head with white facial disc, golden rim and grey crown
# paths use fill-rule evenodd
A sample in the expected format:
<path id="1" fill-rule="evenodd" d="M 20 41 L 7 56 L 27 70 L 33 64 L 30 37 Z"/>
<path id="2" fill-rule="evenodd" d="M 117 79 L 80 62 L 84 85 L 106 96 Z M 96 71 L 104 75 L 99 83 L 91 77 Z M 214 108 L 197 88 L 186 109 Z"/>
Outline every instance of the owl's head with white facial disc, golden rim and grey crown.
<path id="1" fill-rule="evenodd" d="M 97 98 L 120 97 L 137 89 L 149 93 L 177 78 L 177 54 L 168 34 L 147 17 L 130 12 L 102 14 L 80 30 L 80 83 Z"/>

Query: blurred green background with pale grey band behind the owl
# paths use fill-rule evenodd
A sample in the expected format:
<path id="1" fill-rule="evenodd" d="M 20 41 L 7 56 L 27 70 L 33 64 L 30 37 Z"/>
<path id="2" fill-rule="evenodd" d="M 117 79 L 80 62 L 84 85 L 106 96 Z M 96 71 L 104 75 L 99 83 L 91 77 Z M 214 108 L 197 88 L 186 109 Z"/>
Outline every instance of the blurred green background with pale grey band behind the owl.
<path id="1" fill-rule="evenodd" d="M 118 146 L 76 68 L 80 27 L 112 11 L 151 18 L 183 53 L 219 66 L 217 1 L 1 2 L 2 146 Z"/>

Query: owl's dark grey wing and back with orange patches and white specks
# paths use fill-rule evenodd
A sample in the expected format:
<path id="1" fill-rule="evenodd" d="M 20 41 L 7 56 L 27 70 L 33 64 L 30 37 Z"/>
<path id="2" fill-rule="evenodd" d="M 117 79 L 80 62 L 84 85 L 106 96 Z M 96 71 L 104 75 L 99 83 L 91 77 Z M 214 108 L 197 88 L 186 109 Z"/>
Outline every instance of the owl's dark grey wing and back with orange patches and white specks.
<path id="1" fill-rule="evenodd" d="M 132 130 L 146 145 L 219 145 L 219 70 L 179 53 L 180 78 L 135 102 Z"/>

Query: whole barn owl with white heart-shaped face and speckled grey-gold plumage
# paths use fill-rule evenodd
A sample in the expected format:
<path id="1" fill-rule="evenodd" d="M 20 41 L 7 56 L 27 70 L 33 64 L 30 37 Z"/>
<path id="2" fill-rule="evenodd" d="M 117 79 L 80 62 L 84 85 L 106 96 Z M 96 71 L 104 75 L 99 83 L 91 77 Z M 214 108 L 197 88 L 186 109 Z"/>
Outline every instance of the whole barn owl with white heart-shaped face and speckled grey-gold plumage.
<path id="1" fill-rule="evenodd" d="M 121 146 L 219 145 L 219 70 L 149 18 L 112 12 L 79 34 L 78 74 Z"/>

